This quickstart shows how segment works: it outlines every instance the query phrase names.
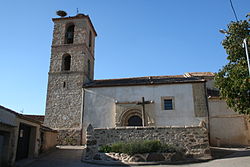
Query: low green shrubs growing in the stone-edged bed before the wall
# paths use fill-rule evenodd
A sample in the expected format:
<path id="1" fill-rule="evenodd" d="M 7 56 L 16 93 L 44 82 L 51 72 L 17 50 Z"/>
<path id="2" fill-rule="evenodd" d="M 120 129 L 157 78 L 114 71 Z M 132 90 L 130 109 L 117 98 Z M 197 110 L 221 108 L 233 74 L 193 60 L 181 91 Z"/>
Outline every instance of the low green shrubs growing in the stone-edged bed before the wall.
<path id="1" fill-rule="evenodd" d="M 173 153 L 179 151 L 179 149 L 174 147 L 173 145 L 162 144 L 159 140 L 145 140 L 126 143 L 118 142 L 112 145 L 104 145 L 100 147 L 99 151 L 134 155 L 152 152 Z"/>

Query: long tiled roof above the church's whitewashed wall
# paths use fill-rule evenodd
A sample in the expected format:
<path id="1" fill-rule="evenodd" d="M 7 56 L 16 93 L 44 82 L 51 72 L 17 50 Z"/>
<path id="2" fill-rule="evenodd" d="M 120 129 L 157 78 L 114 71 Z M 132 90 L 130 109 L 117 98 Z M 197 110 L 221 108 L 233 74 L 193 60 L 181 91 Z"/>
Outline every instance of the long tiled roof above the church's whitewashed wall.
<path id="1" fill-rule="evenodd" d="M 205 82 L 204 79 L 196 77 L 186 77 L 184 75 L 170 75 L 170 76 L 148 76 L 135 78 L 120 78 L 120 79 L 104 79 L 94 80 L 86 83 L 83 87 L 110 87 L 110 86 L 136 86 L 136 85 L 157 85 L 157 84 L 180 84 Z"/>

